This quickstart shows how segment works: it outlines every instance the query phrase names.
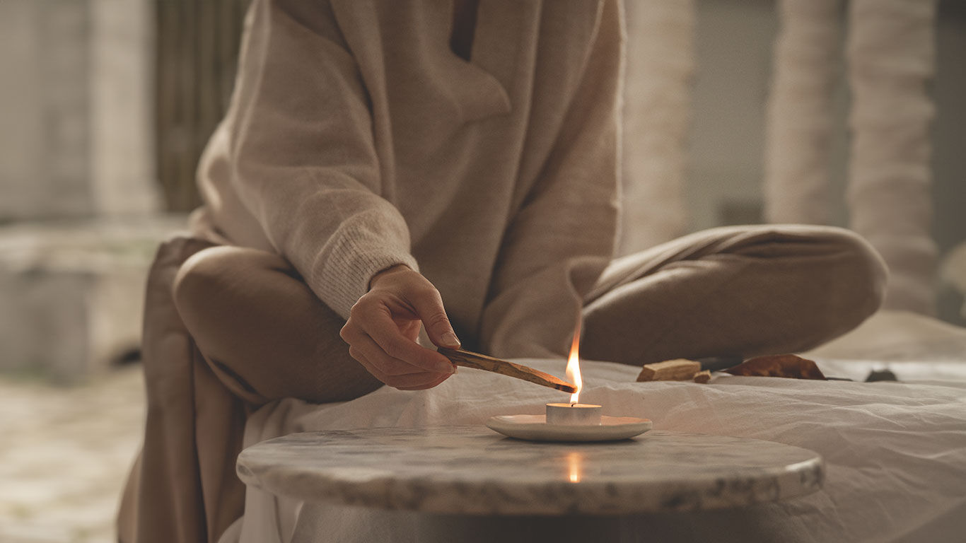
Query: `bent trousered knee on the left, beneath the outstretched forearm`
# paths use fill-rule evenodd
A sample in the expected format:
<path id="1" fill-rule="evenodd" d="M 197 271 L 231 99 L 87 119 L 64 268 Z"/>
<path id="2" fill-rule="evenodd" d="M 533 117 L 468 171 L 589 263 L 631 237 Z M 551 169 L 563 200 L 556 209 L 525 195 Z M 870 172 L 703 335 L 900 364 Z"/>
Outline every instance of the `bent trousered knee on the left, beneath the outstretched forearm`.
<path id="1" fill-rule="evenodd" d="M 179 271 L 174 300 L 215 374 L 249 403 L 346 401 L 382 386 L 349 356 L 345 321 L 278 255 L 202 250 Z"/>

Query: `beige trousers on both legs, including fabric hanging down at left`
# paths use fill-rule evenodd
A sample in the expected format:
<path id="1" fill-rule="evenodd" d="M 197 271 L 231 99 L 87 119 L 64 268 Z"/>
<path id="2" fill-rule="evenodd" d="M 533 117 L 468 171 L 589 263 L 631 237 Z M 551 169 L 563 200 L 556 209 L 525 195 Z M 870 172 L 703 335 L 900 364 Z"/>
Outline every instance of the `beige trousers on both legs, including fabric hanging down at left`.
<path id="1" fill-rule="evenodd" d="M 586 298 L 582 356 L 640 365 L 805 350 L 871 315 L 885 282 L 868 243 L 838 228 L 698 232 L 611 264 Z M 254 406 L 381 386 L 349 357 L 343 324 L 277 255 L 162 245 L 148 286 L 145 447 L 121 541 L 214 541 L 241 515 L 234 460 Z"/>

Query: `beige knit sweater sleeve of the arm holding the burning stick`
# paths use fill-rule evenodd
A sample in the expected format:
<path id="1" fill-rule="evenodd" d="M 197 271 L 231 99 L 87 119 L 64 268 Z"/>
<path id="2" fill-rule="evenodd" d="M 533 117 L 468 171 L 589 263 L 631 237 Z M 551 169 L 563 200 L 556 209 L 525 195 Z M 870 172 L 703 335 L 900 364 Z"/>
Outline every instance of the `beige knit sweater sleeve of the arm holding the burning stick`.
<path id="1" fill-rule="evenodd" d="M 343 318 L 376 272 L 417 269 L 406 221 L 381 196 L 367 95 L 326 2 L 254 0 L 220 129 L 241 204 Z"/>

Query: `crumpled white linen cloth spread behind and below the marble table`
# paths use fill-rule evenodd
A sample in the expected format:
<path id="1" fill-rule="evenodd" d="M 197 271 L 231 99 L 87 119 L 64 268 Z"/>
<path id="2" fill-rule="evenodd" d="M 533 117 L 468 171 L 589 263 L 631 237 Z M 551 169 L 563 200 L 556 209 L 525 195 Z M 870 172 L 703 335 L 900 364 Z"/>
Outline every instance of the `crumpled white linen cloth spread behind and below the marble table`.
<path id="1" fill-rule="evenodd" d="M 519 361 L 557 375 L 564 369 L 562 359 Z M 966 379 L 849 383 L 722 376 L 698 385 L 635 383 L 638 368 L 610 362 L 583 360 L 582 368 L 581 401 L 603 405 L 605 414 L 651 418 L 658 430 L 793 444 L 821 453 L 827 463 L 824 489 L 808 497 L 640 517 L 646 529 L 636 533 L 743 542 L 912 541 L 925 535 L 955 541 L 966 533 Z M 249 420 L 245 445 L 300 431 L 482 424 L 495 414 L 541 414 L 545 403 L 561 399 L 548 388 L 460 368 L 431 390 L 384 387 L 322 406 L 272 403 Z M 417 541 L 418 516 L 303 507 L 248 488 L 244 517 L 221 541 Z M 306 534 L 310 527 L 324 529 Z"/>

